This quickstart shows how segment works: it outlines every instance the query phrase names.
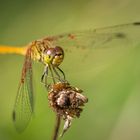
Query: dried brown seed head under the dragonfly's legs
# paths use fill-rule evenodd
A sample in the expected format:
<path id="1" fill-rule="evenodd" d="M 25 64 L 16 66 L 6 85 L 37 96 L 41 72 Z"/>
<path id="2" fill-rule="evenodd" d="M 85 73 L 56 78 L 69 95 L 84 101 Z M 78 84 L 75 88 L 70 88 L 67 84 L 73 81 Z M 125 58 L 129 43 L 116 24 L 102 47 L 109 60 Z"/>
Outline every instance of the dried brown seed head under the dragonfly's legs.
<path id="1" fill-rule="evenodd" d="M 49 104 L 65 120 L 61 136 L 70 127 L 72 119 L 80 117 L 82 106 L 88 102 L 82 92 L 81 89 L 66 82 L 58 82 L 49 87 Z"/>

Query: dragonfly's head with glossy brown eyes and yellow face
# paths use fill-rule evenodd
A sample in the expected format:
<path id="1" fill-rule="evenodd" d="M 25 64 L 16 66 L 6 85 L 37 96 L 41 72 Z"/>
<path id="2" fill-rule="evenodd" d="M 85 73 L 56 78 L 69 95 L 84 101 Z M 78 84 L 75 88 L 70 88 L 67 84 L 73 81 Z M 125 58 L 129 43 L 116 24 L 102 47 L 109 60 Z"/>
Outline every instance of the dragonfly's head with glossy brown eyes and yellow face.
<path id="1" fill-rule="evenodd" d="M 64 59 L 64 51 L 61 47 L 48 48 L 44 52 L 44 63 L 59 66 Z"/>

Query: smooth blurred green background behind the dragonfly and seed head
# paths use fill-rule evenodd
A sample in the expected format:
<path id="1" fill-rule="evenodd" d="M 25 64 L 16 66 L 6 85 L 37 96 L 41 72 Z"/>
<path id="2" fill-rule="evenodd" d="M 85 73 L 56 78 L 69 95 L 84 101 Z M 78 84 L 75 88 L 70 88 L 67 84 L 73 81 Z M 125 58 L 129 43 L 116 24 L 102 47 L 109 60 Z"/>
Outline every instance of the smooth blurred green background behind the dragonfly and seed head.
<path id="1" fill-rule="evenodd" d="M 47 35 L 133 21 L 140 21 L 139 0 L 0 0 L 0 44 L 21 46 Z M 62 65 L 64 70 L 70 67 L 66 75 L 71 84 L 89 98 L 80 119 L 62 139 L 140 140 L 140 49 L 114 59 L 119 53 L 95 51 L 94 60 L 86 60 L 93 65 L 85 69 L 84 61 L 78 61 L 77 71 L 72 58 L 65 62 L 67 67 Z M 11 113 L 23 60 L 23 56 L 0 55 L 0 140 L 50 140 L 55 114 L 40 83 L 39 63 L 33 66 L 33 119 L 21 134 L 13 126 Z"/>

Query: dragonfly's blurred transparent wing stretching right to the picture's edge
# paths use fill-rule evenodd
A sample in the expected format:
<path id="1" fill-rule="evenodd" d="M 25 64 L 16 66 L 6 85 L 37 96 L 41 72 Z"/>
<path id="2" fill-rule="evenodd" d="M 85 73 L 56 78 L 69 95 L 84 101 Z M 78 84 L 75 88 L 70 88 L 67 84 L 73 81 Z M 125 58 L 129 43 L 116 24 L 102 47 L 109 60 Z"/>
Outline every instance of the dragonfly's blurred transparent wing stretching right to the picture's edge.
<path id="1" fill-rule="evenodd" d="M 140 22 L 98 28 L 83 32 L 62 34 L 47 37 L 54 45 L 62 45 L 64 49 L 95 49 L 103 47 L 132 46 L 140 42 Z M 111 44 L 116 43 L 115 46 Z"/>

